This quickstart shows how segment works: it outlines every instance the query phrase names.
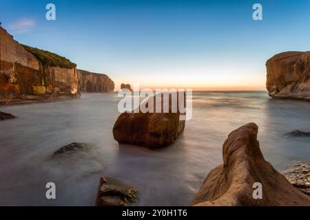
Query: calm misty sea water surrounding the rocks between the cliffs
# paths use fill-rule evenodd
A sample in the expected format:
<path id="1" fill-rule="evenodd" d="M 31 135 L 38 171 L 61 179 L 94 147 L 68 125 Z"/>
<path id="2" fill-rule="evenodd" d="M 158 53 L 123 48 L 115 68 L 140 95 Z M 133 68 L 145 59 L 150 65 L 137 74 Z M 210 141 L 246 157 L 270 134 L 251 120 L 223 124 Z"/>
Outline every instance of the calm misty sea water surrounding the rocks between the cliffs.
<path id="1" fill-rule="evenodd" d="M 272 100 L 266 92 L 194 92 L 193 118 L 167 148 L 119 145 L 112 127 L 117 94 L 83 94 L 80 100 L 0 107 L 19 116 L 0 122 L 0 205 L 93 206 L 102 175 L 135 186 L 141 206 L 186 206 L 211 168 L 222 163 L 222 145 L 238 126 L 256 122 L 262 153 L 282 170 L 310 161 L 310 102 Z M 52 159 L 71 142 L 95 146 L 89 153 Z M 56 200 L 45 184 L 56 184 Z"/>

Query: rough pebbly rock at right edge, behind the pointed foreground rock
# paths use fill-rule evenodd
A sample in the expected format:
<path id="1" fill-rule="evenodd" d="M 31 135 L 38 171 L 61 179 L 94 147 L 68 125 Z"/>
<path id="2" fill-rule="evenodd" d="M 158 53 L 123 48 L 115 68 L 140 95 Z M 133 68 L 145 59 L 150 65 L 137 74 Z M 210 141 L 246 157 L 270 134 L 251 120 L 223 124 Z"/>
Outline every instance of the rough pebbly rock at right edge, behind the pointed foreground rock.
<path id="1" fill-rule="evenodd" d="M 285 170 L 283 174 L 293 186 L 310 196 L 310 164 L 293 163 L 291 168 Z"/>

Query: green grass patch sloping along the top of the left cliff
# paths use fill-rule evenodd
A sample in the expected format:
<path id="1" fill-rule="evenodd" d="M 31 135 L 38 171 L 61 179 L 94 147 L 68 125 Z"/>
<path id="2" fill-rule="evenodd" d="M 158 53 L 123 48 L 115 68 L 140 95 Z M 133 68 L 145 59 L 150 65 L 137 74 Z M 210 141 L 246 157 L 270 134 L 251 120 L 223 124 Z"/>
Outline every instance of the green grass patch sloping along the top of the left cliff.
<path id="1" fill-rule="evenodd" d="M 39 61 L 43 63 L 43 65 L 52 67 L 63 67 L 68 69 L 76 67 L 75 63 L 72 63 L 67 58 L 59 56 L 58 54 L 30 47 L 28 45 L 23 45 L 23 47 L 25 48 L 25 50 L 27 50 L 28 52 L 32 53 L 35 57 L 37 57 Z"/>

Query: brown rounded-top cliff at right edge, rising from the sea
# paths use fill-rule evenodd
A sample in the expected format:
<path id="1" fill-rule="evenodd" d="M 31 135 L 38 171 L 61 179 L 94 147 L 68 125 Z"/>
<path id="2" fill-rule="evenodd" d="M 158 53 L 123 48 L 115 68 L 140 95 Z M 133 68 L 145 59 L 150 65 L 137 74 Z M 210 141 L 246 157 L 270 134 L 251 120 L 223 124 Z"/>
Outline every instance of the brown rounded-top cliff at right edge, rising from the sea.
<path id="1" fill-rule="evenodd" d="M 277 54 L 266 67 L 269 96 L 310 100 L 310 52 Z"/>

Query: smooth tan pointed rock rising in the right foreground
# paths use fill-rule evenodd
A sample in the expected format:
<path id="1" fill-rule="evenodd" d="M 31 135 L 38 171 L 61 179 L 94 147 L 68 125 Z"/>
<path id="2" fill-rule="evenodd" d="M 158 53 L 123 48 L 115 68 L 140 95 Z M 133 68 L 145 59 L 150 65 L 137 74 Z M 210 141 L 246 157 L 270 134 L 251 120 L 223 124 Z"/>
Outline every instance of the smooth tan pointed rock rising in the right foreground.
<path id="1" fill-rule="evenodd" d="M 265 161 L 254 123 L 231 132 L 223 145 L 223 164 L 203 182 L 194 206 L 310 206 L 310 197 L 289 184 Z M 262 199 L 254 199 L 254 183 L 262 184 Z"/>

